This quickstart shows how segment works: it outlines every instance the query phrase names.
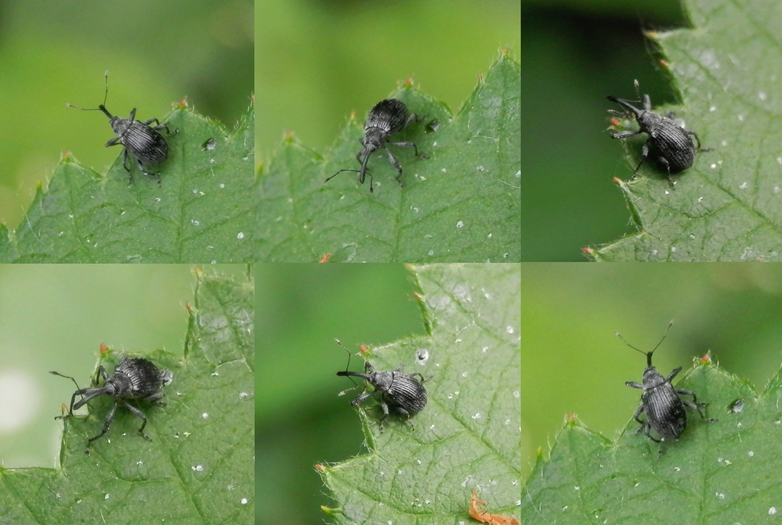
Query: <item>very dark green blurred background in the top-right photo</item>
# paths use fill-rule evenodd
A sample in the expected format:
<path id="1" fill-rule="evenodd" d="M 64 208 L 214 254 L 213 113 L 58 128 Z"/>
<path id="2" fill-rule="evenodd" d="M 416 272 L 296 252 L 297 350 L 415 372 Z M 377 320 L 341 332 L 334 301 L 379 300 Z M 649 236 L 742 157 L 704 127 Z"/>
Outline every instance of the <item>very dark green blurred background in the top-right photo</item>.
<path id="1" fill-rule="evenodd" d="M 675 103 L 646 30 L 687 26 L 676 0 L 522 2 L 522 260 L 584 261 L 580 250 L 635 231 L 613 177 L 630 178 L 606 95 Z"/>

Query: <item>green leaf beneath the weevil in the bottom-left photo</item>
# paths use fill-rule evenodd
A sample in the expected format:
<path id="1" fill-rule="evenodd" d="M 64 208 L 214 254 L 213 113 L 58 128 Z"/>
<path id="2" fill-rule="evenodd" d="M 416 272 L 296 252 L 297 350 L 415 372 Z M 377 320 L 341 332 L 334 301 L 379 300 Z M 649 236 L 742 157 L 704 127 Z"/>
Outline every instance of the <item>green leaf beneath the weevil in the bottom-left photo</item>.
<path id="1" fill-rule="evenodd" d="M 145 356 L 174 373 L 167 406 L 139 402 L 152 441 L 119 408 L 85 455 L 113 402 L 95 398 L 65 420 L 59 468 L 0 468 L 2 523 L 253 523 L 254 285 L 196 273 L 184 357 Z"/>

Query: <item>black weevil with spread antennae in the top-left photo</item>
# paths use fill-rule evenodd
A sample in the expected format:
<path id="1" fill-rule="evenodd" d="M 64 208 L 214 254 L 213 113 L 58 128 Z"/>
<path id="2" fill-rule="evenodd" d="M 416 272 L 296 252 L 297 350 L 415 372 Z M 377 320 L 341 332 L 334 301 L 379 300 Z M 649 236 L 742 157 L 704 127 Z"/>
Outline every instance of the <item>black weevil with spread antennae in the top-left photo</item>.
<path id="1" fill-rule="evenodd" d="M 160 185 L 160 173 L 152 173 L 145 169 L 145 164 L 160 164 L 168 157 L 168 143 L 159 130 L 165 129 L 167 134 L 171 134 L 167 124 L 161 124 L 157 119 L 149 119 L 144 122 L 135 120 L 136 109 L 131 109 L 131 115 L 127 119 L 120 116 L 112 116 L 106 109 L 106 98 L 109 96 L 109 72 L 106 71 L 106 95 L 103 96 L 103 103 L 94 109 L 84 109 L 73 104 L 66 104 L 69 108 L 81 109 L 82 111 L 102 111 L 109 117 L 109 124 L 117 137 L 109 139 L 106 142 L 106 148 L 109 146 L 123 145 L 122 167 L 127 171 L 131 183 L 133 174 L 127 167 L 127 152 L 131 152 L 136 158 L 138 169 L 150 177 L 155 177 L 157 184 Z M 156 123 L 156 126 L 150 127 L 149 124 Z M 179 130 L 174 130 L 177 133 Z"/>

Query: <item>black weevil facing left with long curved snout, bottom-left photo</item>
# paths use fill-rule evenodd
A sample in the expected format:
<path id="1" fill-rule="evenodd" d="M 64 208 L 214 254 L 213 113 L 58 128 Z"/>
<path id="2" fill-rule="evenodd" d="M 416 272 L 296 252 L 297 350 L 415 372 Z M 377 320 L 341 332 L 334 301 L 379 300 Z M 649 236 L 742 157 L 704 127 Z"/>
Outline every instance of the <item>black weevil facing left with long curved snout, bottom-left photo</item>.
<path id="1" fill-rule="evenodd" d="M 93 387 L 79 388 L 79 385 L 73 377 L 64 376 L 62 373 L 54 371 L 49 373 L 72 380 L 77 388 L 74 395 L 70 397 L 70 409 L 68 409 L 68 413 L 63 416 L 56 416 L 56 420 L 64 420 L 73 416 L 74 409 L 80 409 L 85 403 L 99 395 L 106 394 L 114 398 L 114 404 L 109 410 L 109 414 L 106 416 L 106 421 L 103 423 L 101 433 L 93 438 L 89 438 L 87 441 L 87 450 L 84 451 L 85 454 L 89 454 L 91 442 L 98 438 L 102 438 L 103 434 L 106 434 L 106 431 L 109 430 L 109 427 L 114 420 L 114 414 L 117 413 L 117 405 L 119 405 L 120 401 L 133 415 L 144 421 L 142 427 L 138 429 L 138 434 L 141 434 L 144 439 L 152 441 L 152 438 L 149 438 L 149 436 L 144 434 L 144 427 L 146 427 L 147 421 L 146 416 L 141 410 L 128 403 L 126 399 L 143 399 L 144 401 L 151 402 L 153 405 L 165 406 L 165 403 L 160 402 L 160 399 L 163 398 L 165 392 L 160 391 L 160 389 L 163 388 L 163 384 L 170 383 L 171 377 L 173 377 L 169 370 L 159 370 L 155 363 L 152 363 L 149 359 L 140 357 L 127 359 L 127 355 L 125 354 L 120 356 L 120 363 L 117 363 L 117 366 L 114 367 L 114 372 L 110 376 L 106 373 L 106 369 L 103 368 L 102 365 L 99 366 L 98 372 L 95 374 L 95 379 L 92 381 Z M 99 376 L 102 377 L 104 381 L 102 387 L 97 386 Z M 77 395 L 81 395 L 82 397 L 79 401 L 74 403 Z"/>

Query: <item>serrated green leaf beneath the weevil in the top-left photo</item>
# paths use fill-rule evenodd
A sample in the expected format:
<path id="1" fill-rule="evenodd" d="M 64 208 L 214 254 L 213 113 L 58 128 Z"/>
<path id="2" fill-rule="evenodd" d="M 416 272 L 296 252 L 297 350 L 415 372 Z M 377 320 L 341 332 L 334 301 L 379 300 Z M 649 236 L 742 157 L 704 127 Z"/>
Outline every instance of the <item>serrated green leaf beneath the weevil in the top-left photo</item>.
<path id="1" fill-rule="evenodd" d="M 131 158 L 133 184 L 121 155 L 101 175 L 66 153 L 20 227 L 0 225 L 0 262 L 249 262 L 253 109 L 232 133 L 184 106 L 164 122 L 179 131 L 163 130 L 168 159 L 152 166 L 160 186 Z M 215 147 L 203 148 L 210 138 Z"/>

